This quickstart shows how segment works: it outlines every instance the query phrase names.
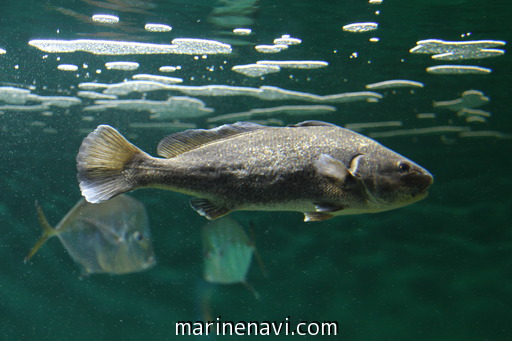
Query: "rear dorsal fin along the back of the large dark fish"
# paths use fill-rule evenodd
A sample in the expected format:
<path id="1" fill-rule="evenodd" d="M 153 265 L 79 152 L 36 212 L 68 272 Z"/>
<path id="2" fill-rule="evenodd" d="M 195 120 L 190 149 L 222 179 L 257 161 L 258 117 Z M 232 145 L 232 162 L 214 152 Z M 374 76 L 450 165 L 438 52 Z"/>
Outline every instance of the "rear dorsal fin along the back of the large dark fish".
<path id="1" fill-rule="evenodd" d="M 234 124 L 225 124 L 209 130 L 185 130 L 164 137 L 158 144 L 157 153 L 158 155 L 165 158 L 171 158 L 208 143 L 228 139 L 236 135 L 266 128 L 268 127 L 255 123 L 237 122 Z"/>

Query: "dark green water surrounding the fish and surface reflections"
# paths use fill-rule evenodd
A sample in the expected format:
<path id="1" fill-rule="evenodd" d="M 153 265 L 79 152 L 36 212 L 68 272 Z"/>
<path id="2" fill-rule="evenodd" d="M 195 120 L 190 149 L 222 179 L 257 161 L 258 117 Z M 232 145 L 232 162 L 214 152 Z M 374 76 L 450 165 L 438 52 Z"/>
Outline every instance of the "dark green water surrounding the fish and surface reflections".
<path id="1" fill-rule="evenodd" d="M 155 154 L 166 134 L 179 128 L 142 129 L 154 123 L 148 112 L 86 112 L 93 101 L 68 109 L 3 111 L 0 115 L 0 338 L 2 340 L 168 340 L 175 322 L 213 318 L 233 321 L 337 321 L 339 340 L 510 340 L 512 231 L 510 219 L 512 151 L 509 113 L 510 57 L 439 62 L 411 54 L 423 39 L 510 42 L 510 6 L 505 1 L 238 1 L 237 18 L 220 14 L 225 1 L 3 1 L 0 86 L 31 88 L 32 94 L 76 96 L 82 82 L 117 83 L 135 73 L 159 74 L 162 65 L 180 65 L 168 74 L 184 85 L 225 84 L 328 95 L 365 91 L 365 85 L 408 79 L 424 87 L 376 90 L 378 103 L 329 104 L 336 112 L 309 116 L 275 115 L 282 124 L 316 119 L 338 125 L 401 121 L 401 127 L 363 130 L 370 134 L 435 126 L 498 131 L 500 137 L 468 138 L 459 133 L 411 134 L 376 138 L 426 167 L 435 184 L 424 201 L 374 215 L 338 217 L 305 224 L 299 213 L 237 212 L 254 227 L 256 246 L 268 276 L 253 264 L 248 282 L 216 286 L 202 279 L 201 227 L 188 197 L 161 190 L 132 195 L 146 205 L 158 264 L 149 271 L 96 275 L 80 271 L 58 240 L 51 240 L 29 264 L 23 257 L 39 236 L 35 200 L 56 224 L 80 198 L 75 157 L 82 139 L 98 124 L 110 124 Z M 375 11 L 380 11 L 379 15 Z M 90 21 L 93 14 L 119 16 L 116 25 Z M 240 20 L 241 24 L 233 24 Z M 374 21 L 377 30 L 343 32 L 354 22 Z M 146 23 L 173 27 L 144 31 Z M 230 34 L 250 27 L 250 36 Z M 469 36 L 461 37 L 471 33 Z M 283 34 L 300 38 L 275 55 L 254 45 L 272 44 Z M 378 37 L 376 43 L 369 38 Z M 174 38 L 202 38 L 231 44 L 229 55 L 105 56 L 85 52 L 46 53 L 32 39 L 118 39 L 169 44 Z M 508 45 L 500 48 L 508 50 Z M 353 53 L 357 52 L 357 58 Z M 44 57 L 47 55 L 47 57 Z M 351 55 L 353 58 L 350 58 Z M 57 58 L 60 57 L 60 60 Z M 264 79 L 232 72 L 234 65 L 262 59 L 320 60 L 315 70 L 283 69 Z M 137 61 L 137 71 L 106 70 L 108 61 Z M 75 64 L 77 72 L 57 70 Z M 83 68 L 87 64 L 87 69 Z M 426 67 L 476 65 L 485 75 L 434 75 Z M 207 68 L 214 67 L 214 71 Z M 224 66 L 223 69 L 220 66 Z M 101 69 L 101 73 L 96 73 Z M 89 73 L 89 75 L 87 75 Z M 486 122 L 466 122 L 433 101 L 479 90 L 490 101 L 479 109 Z M 169 92 L 132 93 L 123 98 L 165 100 Z M 180 95 L 172 93 L 172 95 Z M 193 96 L 192 96 L 193 97 Z M 314 104 L 263 101 L 251 97 L 199 97 L 215 109 L 211 116 L 251 108 Z M 0 100 L 0 106 L 6 105 Z M 420 119 L 418 113 L 435 113 Z M 83 120 L 82 116 L 90 116 Z M 208 117 L 181 119 L 208 127 Z M 35 123 L 34 123 L 35 122 Z M 286 338 L 273 336 L 272 338 Z M 188 338 L 194 338 L 189 336 Z M 326 336 L 309 336 L 320 339 Z M 223 339 L 210 336 L 211 340 Z"/>

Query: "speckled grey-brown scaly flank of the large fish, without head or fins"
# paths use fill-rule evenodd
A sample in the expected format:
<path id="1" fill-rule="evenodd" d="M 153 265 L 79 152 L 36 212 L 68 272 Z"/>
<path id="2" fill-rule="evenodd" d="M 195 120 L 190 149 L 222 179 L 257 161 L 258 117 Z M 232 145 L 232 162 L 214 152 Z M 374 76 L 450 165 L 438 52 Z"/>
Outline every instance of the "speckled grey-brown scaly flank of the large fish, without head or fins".
<path id="1" fill-rule="evenodd" d="M 328 179 L 315 176 L 312 160 L 325 153 L 348 162 L 358 150 L 367 150 L 368 144 L 350 136 L 351 131 L 342 130 L 353 143 L 340 149 L 336 143 L 339 130 L 294 127 L 244 133 L 171 159 L 153 160 L 149 167 L 144 164 L 134 174 L 134 183 L 147 187 L 164 184 L 194 196 L 221 199 L 230 206 L 236 202 L 239 209 L 300 199 L 314 201 L 326 196 L 340 200 L 341 191 L 331 188 Z M 320 141 L 318 135 L 322 136 Z M 154 172 L 148 174 L 146 167 Z"/>

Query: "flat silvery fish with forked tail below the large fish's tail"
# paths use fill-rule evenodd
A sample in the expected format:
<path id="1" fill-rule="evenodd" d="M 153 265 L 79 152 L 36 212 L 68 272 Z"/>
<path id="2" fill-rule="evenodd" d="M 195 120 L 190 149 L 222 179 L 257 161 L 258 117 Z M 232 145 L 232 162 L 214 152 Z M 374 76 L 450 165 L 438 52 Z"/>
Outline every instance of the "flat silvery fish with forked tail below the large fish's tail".
<path id="1" fill-rule="evenodd" d="M 57 236 L 71 258 L 91 273 L 127 274 L 155 265 L 155 255 L 144 205 L 127 195 L 94 205 L 79 200 L 56 228 L 48 223 L 38 204 L 39 223 L 43 228 L 25 262 L 46 241 Z"/>

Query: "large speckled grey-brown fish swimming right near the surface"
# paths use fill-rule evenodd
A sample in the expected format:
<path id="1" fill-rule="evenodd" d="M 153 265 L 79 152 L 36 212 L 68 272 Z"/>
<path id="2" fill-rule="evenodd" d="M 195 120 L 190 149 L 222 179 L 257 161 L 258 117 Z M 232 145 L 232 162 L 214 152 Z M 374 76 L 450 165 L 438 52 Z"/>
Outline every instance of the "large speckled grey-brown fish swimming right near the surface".
<path id="1" fill-rule="evenodd" d="M 91 203 L 137 188 L 197 197 L 208 219 L 235 210 L 299 211 L 304 221 L 386 211 L 425 198 L 432 175 L 378 142 L 336 125 L 288 127 L 238 122 L 165 137 L 152 157 L 100 125 L 77 156 Z"/>

